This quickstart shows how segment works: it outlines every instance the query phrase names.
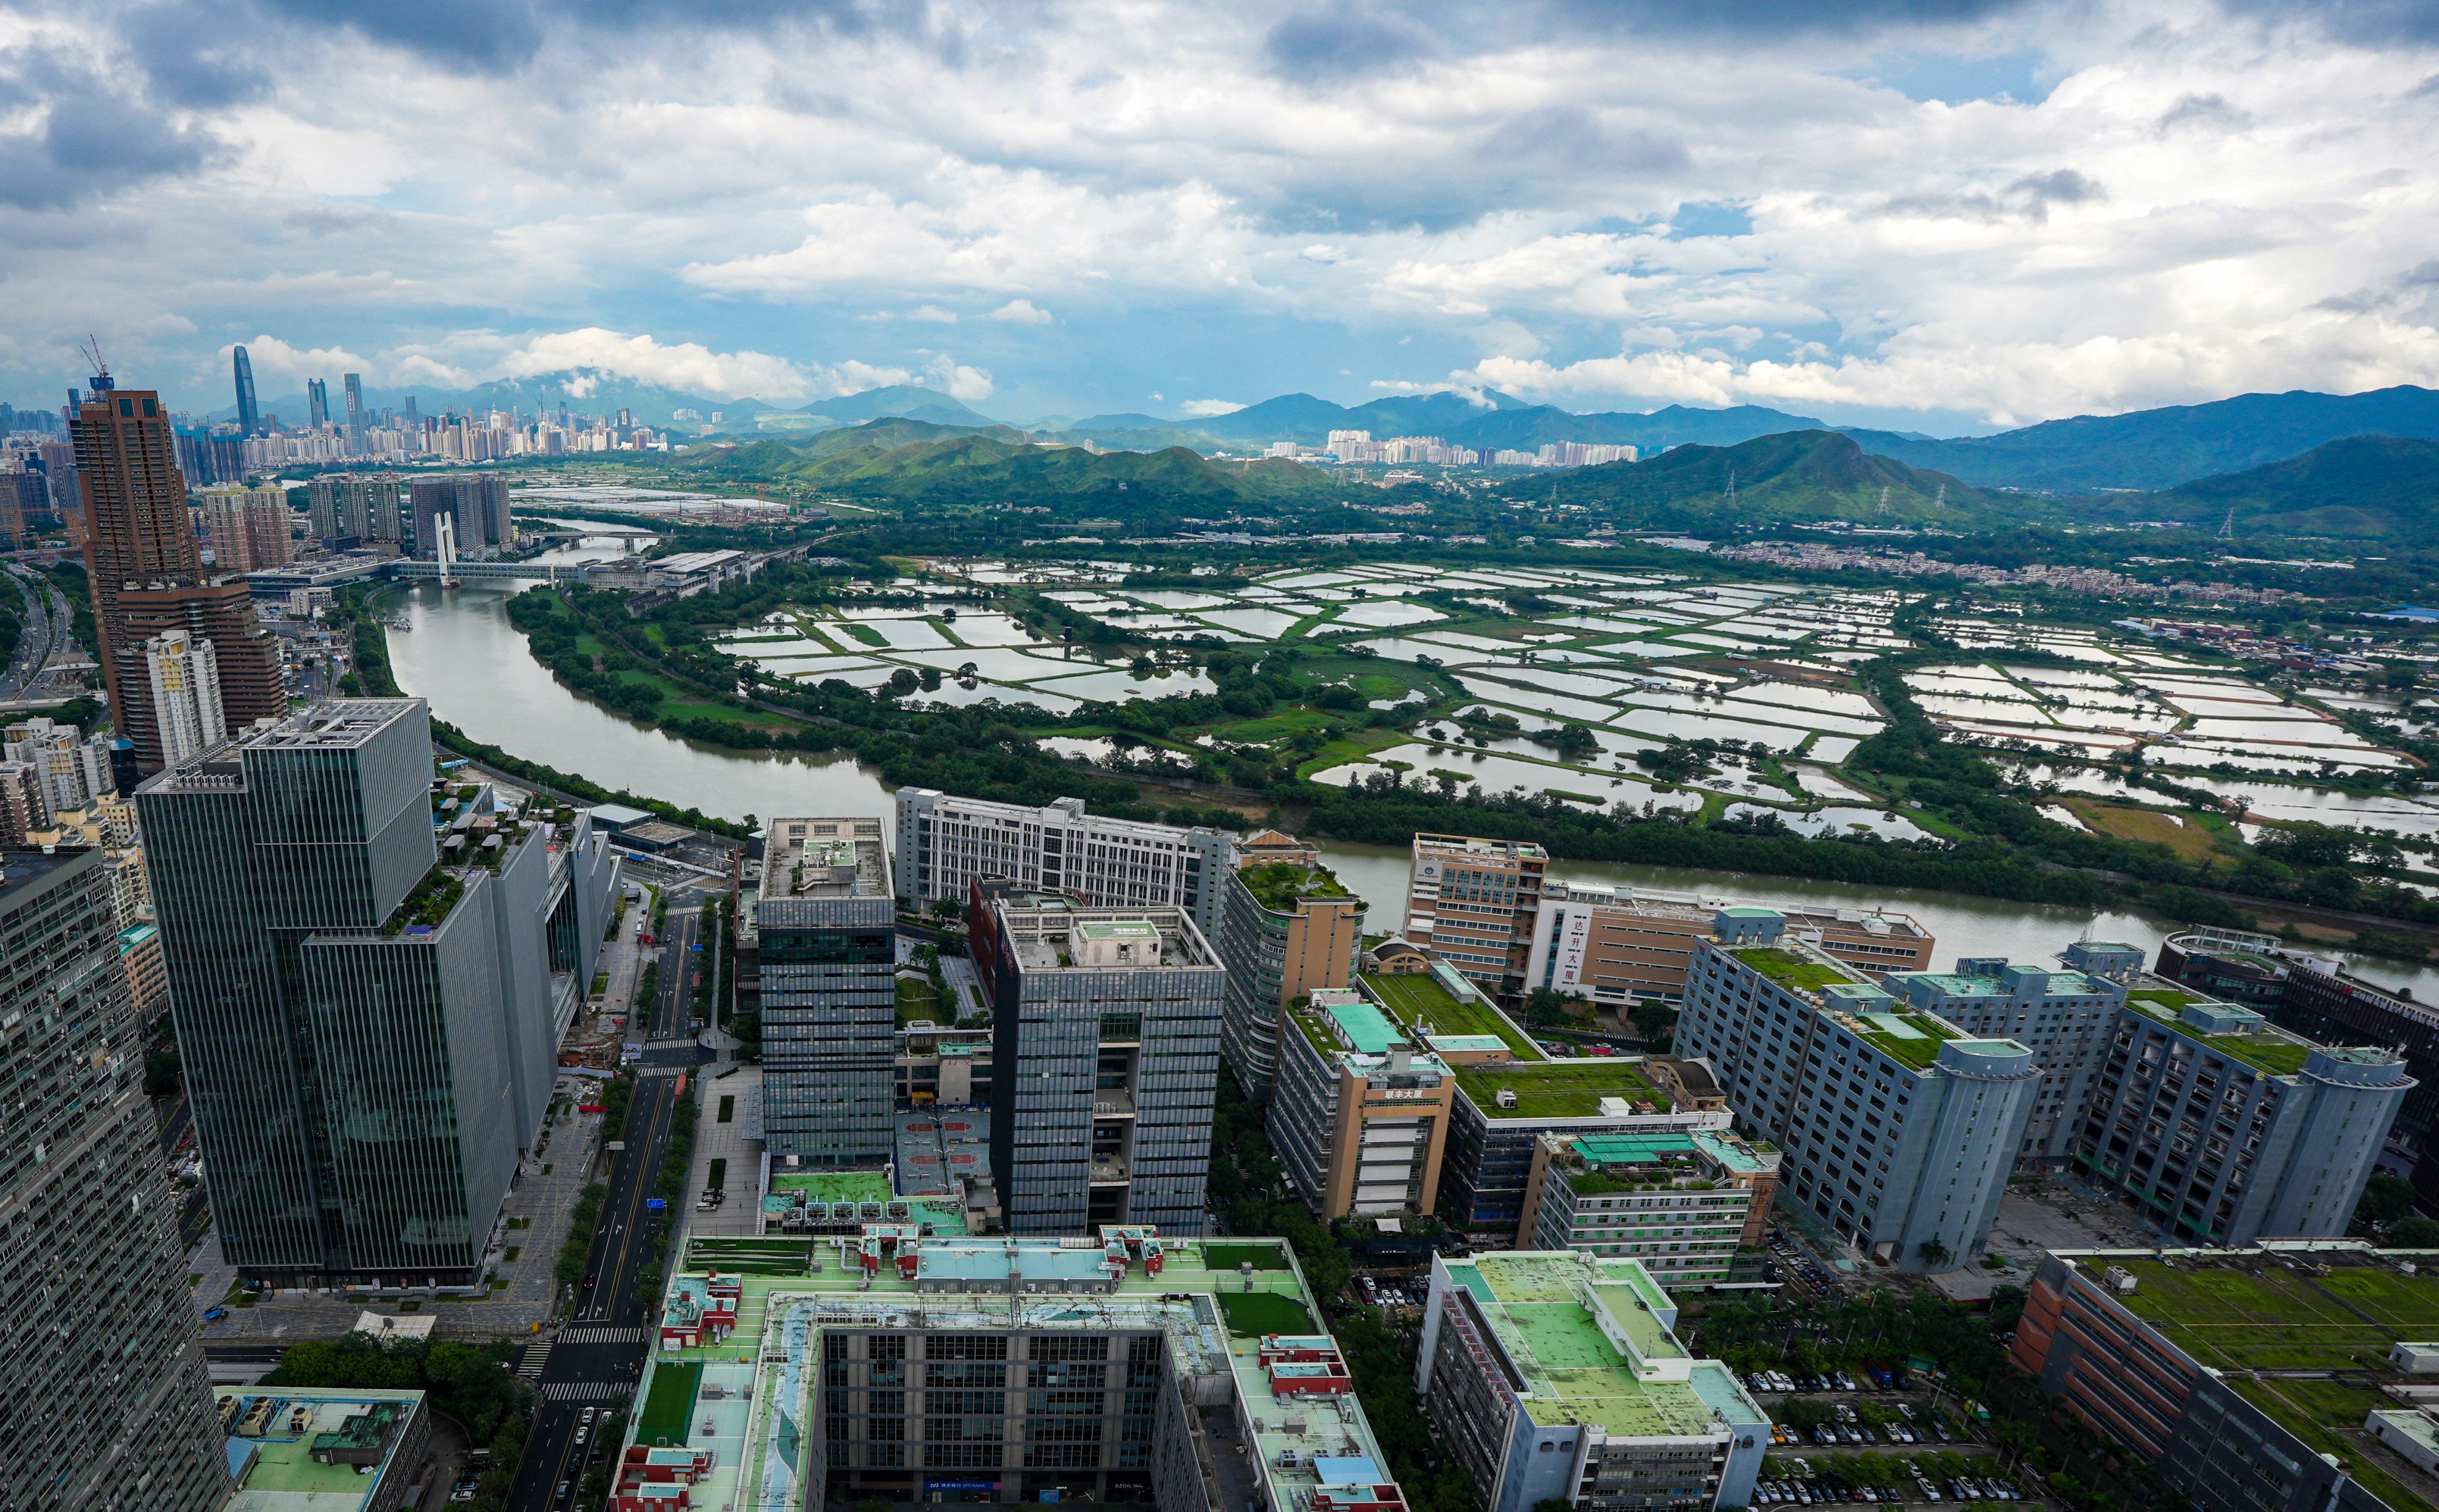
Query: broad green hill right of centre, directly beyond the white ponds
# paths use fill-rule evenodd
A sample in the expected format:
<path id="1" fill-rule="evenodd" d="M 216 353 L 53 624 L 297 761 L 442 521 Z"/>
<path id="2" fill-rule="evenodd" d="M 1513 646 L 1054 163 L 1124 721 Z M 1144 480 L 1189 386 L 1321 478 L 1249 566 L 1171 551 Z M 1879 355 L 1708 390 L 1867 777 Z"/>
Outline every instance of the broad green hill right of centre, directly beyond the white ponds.
<path id="1" fill-rule="evenodd" d="M 1812 519 L 1961 524 L 1988 522 L 1998 512 L 1980 490 L 1871 456 L 1839 432 L 1780 432 L 1734 446 L 1688 444 L 1644 461 L 1519 480 L 1510 493 L 1583 505 L 1588 517 L 1622 529 Z"/>

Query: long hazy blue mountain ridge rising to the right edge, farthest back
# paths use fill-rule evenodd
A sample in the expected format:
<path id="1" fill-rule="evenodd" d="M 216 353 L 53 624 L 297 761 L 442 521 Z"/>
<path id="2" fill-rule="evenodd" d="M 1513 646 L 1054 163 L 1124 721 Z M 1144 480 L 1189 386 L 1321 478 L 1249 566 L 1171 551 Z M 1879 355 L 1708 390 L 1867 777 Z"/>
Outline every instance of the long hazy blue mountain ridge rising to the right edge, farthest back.
<path id="1" fill-rule="evenodd" d="M 2356 395 L 2249 393 L 2212 405 L 2078 415 L 1954 441 L 1866 429 L 1846 434 L 1880 456 L 1941 468 L 1985 488 L 2156 490 L 2259 468 L 2344 437 L 2439 439 L 2439 393 L 2410 385 Z"/>

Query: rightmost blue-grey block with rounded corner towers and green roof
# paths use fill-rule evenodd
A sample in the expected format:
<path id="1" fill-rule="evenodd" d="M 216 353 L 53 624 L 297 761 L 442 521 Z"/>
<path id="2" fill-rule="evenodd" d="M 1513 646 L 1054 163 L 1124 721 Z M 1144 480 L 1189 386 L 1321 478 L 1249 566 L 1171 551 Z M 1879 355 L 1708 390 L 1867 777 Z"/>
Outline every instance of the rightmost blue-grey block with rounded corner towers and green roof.
<path id="1" fill-rule="evenodd" d="M 2156 978 L 2112 1015 L 2076 1114 L 2078 1175 L 2185 1244 L 2337 1239 L 2415 1078 Z"/>

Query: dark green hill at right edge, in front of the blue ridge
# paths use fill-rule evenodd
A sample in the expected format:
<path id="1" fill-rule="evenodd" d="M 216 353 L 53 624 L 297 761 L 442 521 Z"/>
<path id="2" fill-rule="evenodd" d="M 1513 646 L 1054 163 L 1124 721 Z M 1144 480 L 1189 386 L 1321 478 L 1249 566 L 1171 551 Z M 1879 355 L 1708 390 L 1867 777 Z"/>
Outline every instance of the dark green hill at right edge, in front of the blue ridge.
<path id="1" fill-rule="evenodd" d="M 2288 537 L 2395 537 L 2439 522 L 2439 441 L 2346 437 L 2302 456 L 2183 488 L 2110 497 L 2112 512 Z"/>

